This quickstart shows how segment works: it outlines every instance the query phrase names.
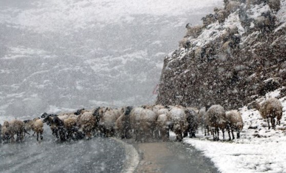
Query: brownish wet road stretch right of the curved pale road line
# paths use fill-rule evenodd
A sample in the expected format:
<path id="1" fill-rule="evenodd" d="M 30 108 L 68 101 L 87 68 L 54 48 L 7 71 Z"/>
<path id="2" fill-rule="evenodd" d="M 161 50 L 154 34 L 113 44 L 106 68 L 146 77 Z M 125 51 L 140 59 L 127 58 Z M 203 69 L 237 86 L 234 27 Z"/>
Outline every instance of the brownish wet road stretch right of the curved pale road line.
<path id="1" fill-rule="evenodd" d="M 218 172 L 210 159 L 181 142 L 133 144 L 140 155 L 136 172 Z"/>

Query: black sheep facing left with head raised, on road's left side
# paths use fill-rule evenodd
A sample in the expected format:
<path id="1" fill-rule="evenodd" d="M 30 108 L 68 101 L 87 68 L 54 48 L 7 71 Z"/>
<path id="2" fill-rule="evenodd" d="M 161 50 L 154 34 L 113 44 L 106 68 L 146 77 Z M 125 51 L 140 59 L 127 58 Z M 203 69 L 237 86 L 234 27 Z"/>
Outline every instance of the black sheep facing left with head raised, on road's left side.
<path id="1" fill-rule="evenodd" d="M 44 123 L 47 123 L 52 131 L 52 134 L 61 141 L 66 141 L 66 129 L 63 120 L 59 119 L 55 114 L 44 113 L 41 118 Z"/>

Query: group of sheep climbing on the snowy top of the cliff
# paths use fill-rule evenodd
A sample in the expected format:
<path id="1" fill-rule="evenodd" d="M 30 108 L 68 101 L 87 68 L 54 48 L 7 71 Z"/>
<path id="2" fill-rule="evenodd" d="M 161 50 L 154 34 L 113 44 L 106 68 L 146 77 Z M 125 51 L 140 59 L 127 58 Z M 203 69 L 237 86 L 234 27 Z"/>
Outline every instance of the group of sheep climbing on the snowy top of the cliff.
<path id="1" fill-rule="evenodd" d="M 252 18 L 250 15 L 251 12 L 249 11 L 250 5 L 262 3 L 268 5 L 271 11 L 262 12 L 257 18 Z M 224 0 L 224 8 L 214 8 L 214 13 L 202 17 L 202 25 L 186 25 L 187 32 L 184 38 L 179 41 L 179 46 L 185 49 L 194 48 L 195 45 L 192 45 L 191 39 L 197 38 L 203 30 L 208 29 L 209 25 L 217 21 L 219 24 L 223 24 L 230 14 L 237 10 L 240 24 L 244 28 L 245 33 L 250 31 L 259 31 L 259 33 L 262 34 L 273 32 L 278 23 L 275 13 L 280 10 L 280 6 L 280 0 Z M 252 24 L 254 27 L 250 28 Z M 220 49 L 215 49 L 216 41 L 208 42 L 202 47 L 193 49 L 194 57 L 197 60 L 207 59 L 210 61 L 214 58 L 214 55 L 218 53 L 232 56 L 232 53 L 239 49 L 241 35 L 238 32 L 237 26 L 230 25 L 223 31 L 218 39 L 218 42 L 221 44 Z"/>

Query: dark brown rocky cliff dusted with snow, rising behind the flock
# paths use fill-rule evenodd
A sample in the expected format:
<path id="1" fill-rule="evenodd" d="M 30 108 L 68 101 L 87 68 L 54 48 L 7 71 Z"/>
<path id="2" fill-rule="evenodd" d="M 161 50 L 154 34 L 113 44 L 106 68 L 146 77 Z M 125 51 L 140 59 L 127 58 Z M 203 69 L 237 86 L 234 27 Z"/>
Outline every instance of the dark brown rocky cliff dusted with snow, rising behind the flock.
<path id="1" fill-rule="evenodd" d="M 156 104 L 236 109 L 285 86 L 285 4 L 276 15 L 264 3 L 240 4 L 224 23 L 189 34 L 164 60 Z"/>

